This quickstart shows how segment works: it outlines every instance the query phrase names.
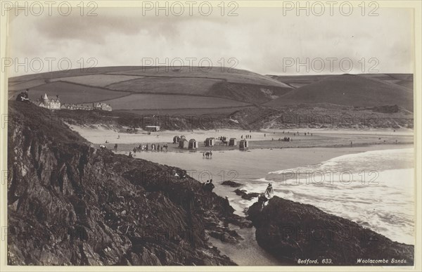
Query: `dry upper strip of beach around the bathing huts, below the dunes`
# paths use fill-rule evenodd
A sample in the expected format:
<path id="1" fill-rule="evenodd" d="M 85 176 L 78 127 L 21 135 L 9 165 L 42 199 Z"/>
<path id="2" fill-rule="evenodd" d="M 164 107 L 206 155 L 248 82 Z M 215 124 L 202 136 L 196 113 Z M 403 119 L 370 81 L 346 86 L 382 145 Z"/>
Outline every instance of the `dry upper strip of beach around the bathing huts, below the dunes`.
<path id="1" fill-rule="evenodd" d="M 219 130 L 193 130 L 193 131 L 158 131 L 151 132 L 150 135 L 146 131 L 139 130 L 136 134 L 127 133 L 123 129 L 110 129 L 108 127 L 78 127 L 70 126 L 71 129 L 77 131 L 81 136 L 86 138 L 96 147 L 100 144 L 106 145 L 107 148 L 113 148 L 115 143 L 118 145 L 118 151 L 129 153 L 134 146 L 142 144 L 155 143 L 160 146 L 167 144 L 168 151 L 192 151 L 181 150 L 177 144 L 173 143 L 174 136 L 185 136 L 187 140 L 195 139 L 198 141 L 198 149 L 196 151 L 203 152 L 205 150 L 226 151 L 238 150 L 238 146 L 219 145 L 219 141 L 215 142 L 212 148 L 205 147 L 205 138 L 225 136 L 227 141 L 229 138 L 236 138 L 240 141 L 245 139 L 246 135 L 250 135 L 247 139 L 249 149 L 256 148 L 330 148 L 330 147 L 359 147 L 365 145 L 390 145 L 390 144 L 412 144 L 414 141 L 413 130 L 409 129 L 369 129 L 364 131 L 356 131 L 351 129 L 294 129 L 294 130 L 263 130 L 263 131 L 244 131 L 237 129 L 219 129 Z M 306 135 L 305 135 L 306 133 Z M 288 137 L 292 141 L 279 141 L 279 139 Z M 106 141 L 108 143 L 106 143 Z"/>

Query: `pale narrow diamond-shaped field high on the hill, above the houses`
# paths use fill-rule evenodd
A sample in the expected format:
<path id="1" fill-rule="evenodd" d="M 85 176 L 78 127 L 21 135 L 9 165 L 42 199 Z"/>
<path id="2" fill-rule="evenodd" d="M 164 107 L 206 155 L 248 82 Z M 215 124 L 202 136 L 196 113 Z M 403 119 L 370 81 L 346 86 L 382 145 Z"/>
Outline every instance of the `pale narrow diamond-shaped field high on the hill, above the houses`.
<path id="1" fill-rule="evenodd" d="M 51 82 L 70 82 L 76 84 L 83 84 L 89 86 L 105 87 L 107 85 L 124 82 L 126 80 L 139 79 L 137 76 L 126 76 L 126 75 L 84 75 L 77 77 L 58 77 L 51 79 Z"/>

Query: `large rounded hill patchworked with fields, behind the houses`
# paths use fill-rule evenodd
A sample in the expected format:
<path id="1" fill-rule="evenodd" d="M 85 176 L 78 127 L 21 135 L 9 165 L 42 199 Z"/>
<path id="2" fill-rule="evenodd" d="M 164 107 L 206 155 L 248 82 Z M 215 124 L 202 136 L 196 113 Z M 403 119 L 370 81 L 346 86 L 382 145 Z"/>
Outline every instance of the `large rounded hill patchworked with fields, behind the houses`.
<path id="1" fill-rule="evenodd" d="M 115 110 L 204 110 L 219 112 L 267 103 L 291 91 L 276 79 L 247 70 L 220 67 L 98 67 L 13 77 L 8 99 L 30 89 L 60 96 L 62 103 L 110 103 Z M 158 112 L 157 112 L 158 113 Z"/>

